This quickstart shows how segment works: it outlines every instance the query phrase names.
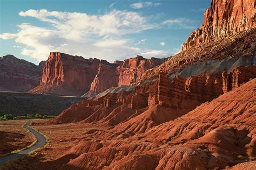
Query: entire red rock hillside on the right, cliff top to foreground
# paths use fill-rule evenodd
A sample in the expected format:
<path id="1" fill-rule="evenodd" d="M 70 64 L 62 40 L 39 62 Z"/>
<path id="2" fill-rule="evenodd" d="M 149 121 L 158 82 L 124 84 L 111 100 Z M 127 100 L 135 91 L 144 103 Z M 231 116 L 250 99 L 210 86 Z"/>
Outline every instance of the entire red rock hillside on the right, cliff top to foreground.
<path id="1" fill-rule="evenodd" d="M 256 29 L 250 20 L 251 3 L 213 0 L 204 25 L 185 42 L 183 52 L 151 69 L 141 56 L 123 61 L 117 67 L 118 86 L 132 86 L 106 90 L 45 122 L 50 126 L 72 122 L 61 125 L 68 126 L 65 137 L 80 130 L 78 126 L 86 129 L 72 135 L 73 141 L 66 140 L 76 146 L 59 152 L 48 165 L 224 169 L 247 161 L 253 164 Z M 58 137 L 53 140 L 62 145 Z M 50 147 L 52 151 L 44 151 L 57 151 Z M 244 167 L 253 166 L 241 164 L 234 169 Z"/>

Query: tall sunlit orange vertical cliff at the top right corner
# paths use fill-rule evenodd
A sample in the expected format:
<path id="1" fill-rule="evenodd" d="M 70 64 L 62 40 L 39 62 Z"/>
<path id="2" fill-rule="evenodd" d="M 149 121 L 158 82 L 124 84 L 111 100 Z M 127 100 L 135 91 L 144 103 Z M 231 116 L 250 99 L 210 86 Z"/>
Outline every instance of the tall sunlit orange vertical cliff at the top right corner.
<path id="1" fill-rule="evenodd" d="M 201 28 L 191 33 L 182 50 L 250 29 L 254 19 L 255 0 L 212 0 Z"/>

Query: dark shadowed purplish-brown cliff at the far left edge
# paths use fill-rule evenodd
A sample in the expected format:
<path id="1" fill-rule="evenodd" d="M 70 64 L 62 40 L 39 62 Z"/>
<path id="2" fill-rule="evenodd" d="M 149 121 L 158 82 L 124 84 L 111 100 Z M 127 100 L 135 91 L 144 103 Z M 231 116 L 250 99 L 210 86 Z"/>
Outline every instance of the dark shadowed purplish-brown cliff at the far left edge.
<path id="1" fill-rule="evenodd" d="M 0 58 L 0 91 L 28 91 L 39 85 L 45 61 L 35 64 L 14 55 Z"/>

